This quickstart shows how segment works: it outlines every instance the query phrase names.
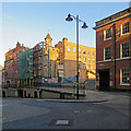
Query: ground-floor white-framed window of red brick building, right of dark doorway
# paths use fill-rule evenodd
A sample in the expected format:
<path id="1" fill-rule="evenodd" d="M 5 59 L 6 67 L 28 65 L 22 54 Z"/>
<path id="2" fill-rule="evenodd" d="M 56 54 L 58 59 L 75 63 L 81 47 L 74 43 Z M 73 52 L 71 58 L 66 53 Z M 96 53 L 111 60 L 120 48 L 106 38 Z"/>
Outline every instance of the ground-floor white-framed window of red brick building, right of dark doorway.
<path id="1" fill-rule="evenodd" d="M 129 84 L 129 69 L 121 69 L 121 84 Z"/>

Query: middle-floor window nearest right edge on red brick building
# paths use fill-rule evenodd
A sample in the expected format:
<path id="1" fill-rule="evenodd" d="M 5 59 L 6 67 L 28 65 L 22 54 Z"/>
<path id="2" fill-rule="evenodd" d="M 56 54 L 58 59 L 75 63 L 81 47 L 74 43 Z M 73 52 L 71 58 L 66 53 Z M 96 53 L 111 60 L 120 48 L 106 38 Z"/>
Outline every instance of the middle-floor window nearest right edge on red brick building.
<path id="1" fill-rule="evenodd" d="M 121 44 L 121 58 L 129 57 L 130 53 L 130 44 Z"/>

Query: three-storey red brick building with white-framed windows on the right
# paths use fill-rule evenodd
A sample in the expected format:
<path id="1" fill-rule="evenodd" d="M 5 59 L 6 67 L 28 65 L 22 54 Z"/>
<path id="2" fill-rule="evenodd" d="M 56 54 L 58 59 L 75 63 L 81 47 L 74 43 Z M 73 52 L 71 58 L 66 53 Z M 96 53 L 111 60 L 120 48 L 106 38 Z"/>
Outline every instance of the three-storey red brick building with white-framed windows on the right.
<path id="1" fill-rule="evenodd" d="M 96 88 L 131 90 L 131 8 L 96 22 Z"/>

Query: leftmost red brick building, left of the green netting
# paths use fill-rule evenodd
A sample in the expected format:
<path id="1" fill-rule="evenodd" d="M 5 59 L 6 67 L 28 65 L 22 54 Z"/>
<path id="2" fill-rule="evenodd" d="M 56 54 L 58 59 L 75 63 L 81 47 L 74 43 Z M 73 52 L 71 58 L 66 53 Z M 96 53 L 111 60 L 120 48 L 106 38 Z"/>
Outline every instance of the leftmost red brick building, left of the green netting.
<path id="1" fill-rule="evenodd" d="M 9 49 L 5 53 L 4 69 L 7 86 L 19 86 L 19 53 L 26 49 L 26 47 L 17 41 L 16 47 Z"/>

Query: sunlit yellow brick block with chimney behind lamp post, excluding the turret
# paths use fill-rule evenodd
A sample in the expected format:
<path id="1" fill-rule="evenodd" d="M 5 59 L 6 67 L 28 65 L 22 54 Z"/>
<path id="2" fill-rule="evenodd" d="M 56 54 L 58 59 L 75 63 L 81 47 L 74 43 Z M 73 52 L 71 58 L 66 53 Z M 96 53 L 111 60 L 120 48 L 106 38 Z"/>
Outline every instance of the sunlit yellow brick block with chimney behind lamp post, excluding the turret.
<path id="1" fill-rule="evenodd" d="M 69 43 L 63 38 L 55 45 L 58 48 L 57 71 L 59 76 L 73 78 L 76 75 L 76 44 Z M 88 73 L 86 72 L 88 70 Z M 79 45 L 79 72 L 80 82 L 87 79 L 95 79 L 96 49 Z"/>

